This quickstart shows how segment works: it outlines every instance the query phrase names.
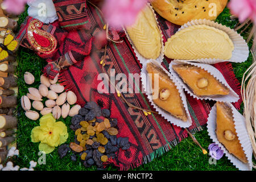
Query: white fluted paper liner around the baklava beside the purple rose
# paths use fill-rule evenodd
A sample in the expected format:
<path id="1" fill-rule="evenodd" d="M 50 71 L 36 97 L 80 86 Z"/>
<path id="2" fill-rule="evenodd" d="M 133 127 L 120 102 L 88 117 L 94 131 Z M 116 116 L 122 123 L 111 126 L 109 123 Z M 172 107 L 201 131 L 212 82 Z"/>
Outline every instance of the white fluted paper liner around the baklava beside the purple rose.
<path id="1" fill-rule="evenodd" d="M 243 163 L 241 160 L 236 158 L 233 154 L 230 154 L 228 150 L 224 147 L 223 144 L 218 142 L 217 135 L 216 135 L 216 104 L 210 110 L 210 114 L 207 121 L 207 131 L 210 138 L 213 140 L 214 143 L 218 144 L 221 147 L 221 150 L 224 151 L 224 154 L 228 157 L 230 162 L 233 163 L 241 171 L 251 171 L 253 162 L 252 162 L 252 155 L 253 155 L 253 148 L 251 147 L 251 142 L 249 135 L 246 130 L 245 118 L 236 110 L 236 108 L 230 104 L 230 102 L 226 102 L 231 108 L 234 118 L 234 125 L 237 132 L 237 137 L 240 140 L 241 146 L 243 151 L 245 151 L 246 158 L 248 163 Z"/>

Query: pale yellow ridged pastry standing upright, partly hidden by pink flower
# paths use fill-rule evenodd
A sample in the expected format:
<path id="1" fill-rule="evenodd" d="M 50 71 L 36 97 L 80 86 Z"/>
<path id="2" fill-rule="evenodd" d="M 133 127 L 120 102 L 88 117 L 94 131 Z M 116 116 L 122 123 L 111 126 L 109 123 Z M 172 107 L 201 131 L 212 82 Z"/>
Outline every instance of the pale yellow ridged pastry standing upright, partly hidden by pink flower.
<path id="1" fill-rule="evenodd" d="M 126 31 L 134 46 L 143 57 L 156 59 L 160 56 L 162 48 L 161 34 L 155 20 L 155 15 L 149 6 L 146 6 L 139 13 L 133 26 L 126 27 Z"/>

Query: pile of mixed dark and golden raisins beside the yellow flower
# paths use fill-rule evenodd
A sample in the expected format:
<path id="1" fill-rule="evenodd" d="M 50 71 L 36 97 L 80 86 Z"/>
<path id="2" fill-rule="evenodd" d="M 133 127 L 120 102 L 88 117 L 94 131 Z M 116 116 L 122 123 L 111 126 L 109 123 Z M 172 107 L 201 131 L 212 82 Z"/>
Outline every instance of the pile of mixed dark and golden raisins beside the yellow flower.
<path id="1" fill-rule="evenodd" d="M 119 148 L 130 148 L 129 138 L 117 138 L 117 119 L 110 118 L 108 109 L 101 109 L 96 102 L 87 102 L 71 121 L 70 128 L 75 131 L 75 140 L 69 146 L 59 147 L 59 156 L 63 158 L 68 150 L 72 150 L 71 160 L 76 161 L 80 155 L 85 167 L 96 165 L 103 168 L 102 163 L 115 158 Z"/>

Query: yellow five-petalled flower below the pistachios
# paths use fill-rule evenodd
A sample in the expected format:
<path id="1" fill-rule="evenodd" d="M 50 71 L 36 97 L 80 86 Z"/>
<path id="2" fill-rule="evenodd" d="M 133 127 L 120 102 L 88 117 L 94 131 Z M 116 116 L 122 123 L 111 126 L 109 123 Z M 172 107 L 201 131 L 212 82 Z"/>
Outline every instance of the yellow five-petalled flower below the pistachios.
<path id="1" fill-rule="evenodd" d="M 31 141 L 41 142 L 39 150 L 46 154 L 51 153 L 55 147 L 67 141 L 67 126 L 63 122 L 56 122 L 52 114 L 46 114 L 40 118 L 40 126 L 31 131 Z"/>

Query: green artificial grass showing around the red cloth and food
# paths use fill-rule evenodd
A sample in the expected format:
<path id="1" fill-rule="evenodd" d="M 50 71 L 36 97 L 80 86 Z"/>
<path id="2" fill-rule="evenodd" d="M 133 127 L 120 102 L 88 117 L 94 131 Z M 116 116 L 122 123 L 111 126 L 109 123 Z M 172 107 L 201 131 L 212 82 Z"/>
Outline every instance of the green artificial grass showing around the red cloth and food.
<path id="1" fill-rule="evenodd" d="M 27 13 L 20 15 L 19 24 L 23 22 L 24 18 L 27 16 Z M 230 19 L 230 13 L 228 9 L 225 9 L 220 16 L 218 16 L 218 23 L 234 28 L 237 23 L 237 20 Z M 242 36 L 247 38 L 247 32 L 243 32 Z M 249 46 L 251 46 L 251 42 Z M 40 75 L 42 75 L 42 68 L 46 65 L 46 61 L 40 59 L 39 56 L 35 55 L 34 52 L 20 47 L 18 51 L 18 68 L 16 68 L 16 74 L 18 75 L 18 86 L 19 86 L 19 95 L 18 99 L 23 95 L 27 94 L 29 87 L 38 88 L 40 85 Z M 250 66 L 252 62 L 252 56 L 245 63 L 233 63 L 234 73 L 238 80 L 242 81 L 243 73 Z M 23 80 L 24 72 L 31 72 L 35 76 L 35 83 L 32 85 L 25 84 Z M 40 156 L 38 155 L 39 143 L 32 143 L 30 134 L 31 130 L 35 126 L 39 126 L 38 121 L 31 121 L 27 119 L 24 115 L 24 111 L 19 104 L 18 109 L 18 131 L 17 131 L 17 145 L 19 149 L 19 156 L 14 159 L 16 165 L 20 167 L 29 167 L 29 162 L 34 160 L 38 162 Z M 240 110 L 242 113 L 242 109 Z M 74 132 L 69 129 L 71 125 L 71 118 L 59 119 L 63 121 L 68 127 L 69 137 L 66 143 L 72 142 L 74 138 Z M 203 131 L 200 131 L 195 134 L 196 139 L 200 142 L 201 146 L 205 149 L 208 148 L 209 144 L 212 143 L 212 140 L 208 136 L 207 128 L 204 126 Z M 80 171 L 80 170 L 96 170 L 96 167 L 85 168 L 80 159 L 77 162 L 72 162 L 70 159 L 71 152 L 68 153 L 63 159 L 59 159 L 57 154 L 57 148 L 51 154 L 46 155 L 46 164 L 41 164 L 36 166 L 36 170 L 65 170 L 65 171 Z M 216 164 L 209 163 L 210 156 L 204 155 L 201 149 L 193 143 L 191 138 L 186 138 L 182 140 L 177 146 L 172 147 L 170 151 L 166 152 L 162 156 L 158 156 L 152 162 L 143 164 L 142 166 L 135 168 L 137 171 L 152 170 L 152 171 L 162 171 L 162 170 L 237 170 L 232 163 L 224 155 L 220 160 L 216 161 Z M 114 166 L 109 166 L 106 170 L 117 170 Z"/>

